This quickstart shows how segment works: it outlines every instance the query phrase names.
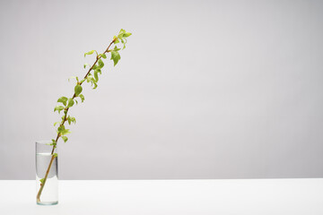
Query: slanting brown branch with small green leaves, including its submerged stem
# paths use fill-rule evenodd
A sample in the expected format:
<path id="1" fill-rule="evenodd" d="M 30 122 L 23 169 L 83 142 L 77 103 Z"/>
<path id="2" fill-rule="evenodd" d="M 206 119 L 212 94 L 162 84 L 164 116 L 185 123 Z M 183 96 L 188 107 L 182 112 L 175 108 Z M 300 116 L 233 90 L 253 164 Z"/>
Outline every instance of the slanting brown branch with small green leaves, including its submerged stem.
<path id="1" fill-rule="evenodd" d="M 110 60 L 113 61 L 114 66 L 116 66 L 116 64 L 118 64 L 118 61 L 120 60 L 120 54 L 119 54 L 119 50 L 121 50 L 121 48 L 118 48 L 116 44 L 118 44 L 120 41 L 123 45 L 124 49 L 126 47 L 127 44 L 127 38 L 131 36 L 131 33 L 127 32 L 126 30 L 121 29 L 118 33 L 118 36 L 114 36 L 112 41 L 109 43 L 109 46 L 106 48 L 106 50 L 99 54 L 96 50 L 91 50 L 89 52 L 86 52 L 84 54 L 85 56 L 88 55 L 92 55 L 92 54 L 96 54 L 96 60 L 95 62 L 92 64 L 92 66 L 90 66 L 90 64 L 84 64 L 83 68 L 85 69 L 87 66 L 90 66 L 88 72 L 85 74 L 85 76 L 83 77 L 83 79 L 79 79 L 79 77 L 71 77 L 74 78 L 76 80 L 76 85 L 74 87 L 74 95 L 71 98 L 67 98 L 67 97 L 60 97 L 59 99 L 57 99 L 58 103 L 61 103 L 60 105 L 57 105 L 54 108 L 54 112 L 58 112 L 58 114 L 61 113 L 61 111 L 63 111 L 64 115 L 61 116 L 61 121 L 60 122 L 56 122 L 54 124 L 54 126 L 57 126 L 57 137 L 56 139 L 52 139 L 52 142 L 50 143 L 50 145 L 53 146 L 53 149 L 51 151 L 51 155 L 52 158 L 50 159 L 49 165 L 48 165 L 48 169 L 46 171 L 46 175 L 44 178 L 41 178 L 40 181 L 40 187 L 39 187 L 39 192 L 37 193 L 37 202 L 40 202 L 40 195 L 42 193 L 42 190 L 46 184 L 47 178 L 48 178 L 48 174 L 49 174 L 49 170 L 51 168 L 51 165 L 53 163 L 53 160 L 57 157 L 57 153 L 55 152 L 55 149 L 57 148 L 57 141 L 59 140 L 59 138 L 62 138 L 62 140 L 64 142 L 68 141 L 68 138 L 66 137 L 67 134 L 71 133 L 69 129 L 65 128 L 65 122 L 68 123 L 68 125 L 71 125 L 72 123 L 76 123 L 76 120 L 73 116 L 69 116 L 68 114 L 68 110 L 70 107 L 73 107 L 74 104 L 76 103 L 76 105 L 78 104 L 77 98 L 79 98 L 81 100 L 81 102 L 84 101 L 84 96 L 82 93 L 83 91 L 83 87 L 82 84 L 83 82 L 89 82 L 91 83 L 91 86 L 94 89 L 96 89 L 98 87 L 98 82 L 99 82 L 99 74 L 101 74 L 101 69 L 104 66 L 103 63 L 103 59 L 107 59 L 107 54 L 111 53 L 111 58 Z M 109 49 L 112 45 L 114 45 L 113 49 Z M 70 79 L 71 79 L 70 78 Z M 70 80 L 69 79 L 69 80 Z"/>

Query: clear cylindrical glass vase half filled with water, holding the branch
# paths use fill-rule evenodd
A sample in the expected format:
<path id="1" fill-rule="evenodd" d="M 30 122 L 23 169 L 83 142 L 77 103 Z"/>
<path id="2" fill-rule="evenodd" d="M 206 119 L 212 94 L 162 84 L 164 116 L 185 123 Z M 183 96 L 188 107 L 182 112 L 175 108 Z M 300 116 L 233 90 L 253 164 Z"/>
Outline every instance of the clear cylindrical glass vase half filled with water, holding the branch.
<path id="1" fill-rule="evenodd" d="M 36 201 L 41 205 L 58 203 L 57 148 L 51 143 L 36 142 Z"/>

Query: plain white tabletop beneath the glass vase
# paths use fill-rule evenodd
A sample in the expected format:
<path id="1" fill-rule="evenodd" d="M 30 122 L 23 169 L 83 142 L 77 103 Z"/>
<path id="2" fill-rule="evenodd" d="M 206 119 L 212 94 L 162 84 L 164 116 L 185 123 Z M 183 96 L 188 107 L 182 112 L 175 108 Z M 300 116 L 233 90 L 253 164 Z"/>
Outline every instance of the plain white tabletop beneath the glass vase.
<path id="1" fill-rule="evenodd" d="M 35 181 L 0 180 L 1 215 L 323 215 L 323 179 L 59 181 L 59 202 L 36 204 Z"/>

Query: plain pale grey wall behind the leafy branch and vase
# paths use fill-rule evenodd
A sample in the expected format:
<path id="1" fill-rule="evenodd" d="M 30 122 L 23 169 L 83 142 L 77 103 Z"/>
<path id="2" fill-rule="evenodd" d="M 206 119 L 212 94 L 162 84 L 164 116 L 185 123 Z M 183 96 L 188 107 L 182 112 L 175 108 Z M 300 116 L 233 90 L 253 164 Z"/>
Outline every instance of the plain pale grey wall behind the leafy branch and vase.
<path id="1" fill-rule="evenodd" d="M 1 1 L 0 179 L 34 178 L 67 78 L 120 28 L 61 179 L 323 176 L 322 1 Z"/>

